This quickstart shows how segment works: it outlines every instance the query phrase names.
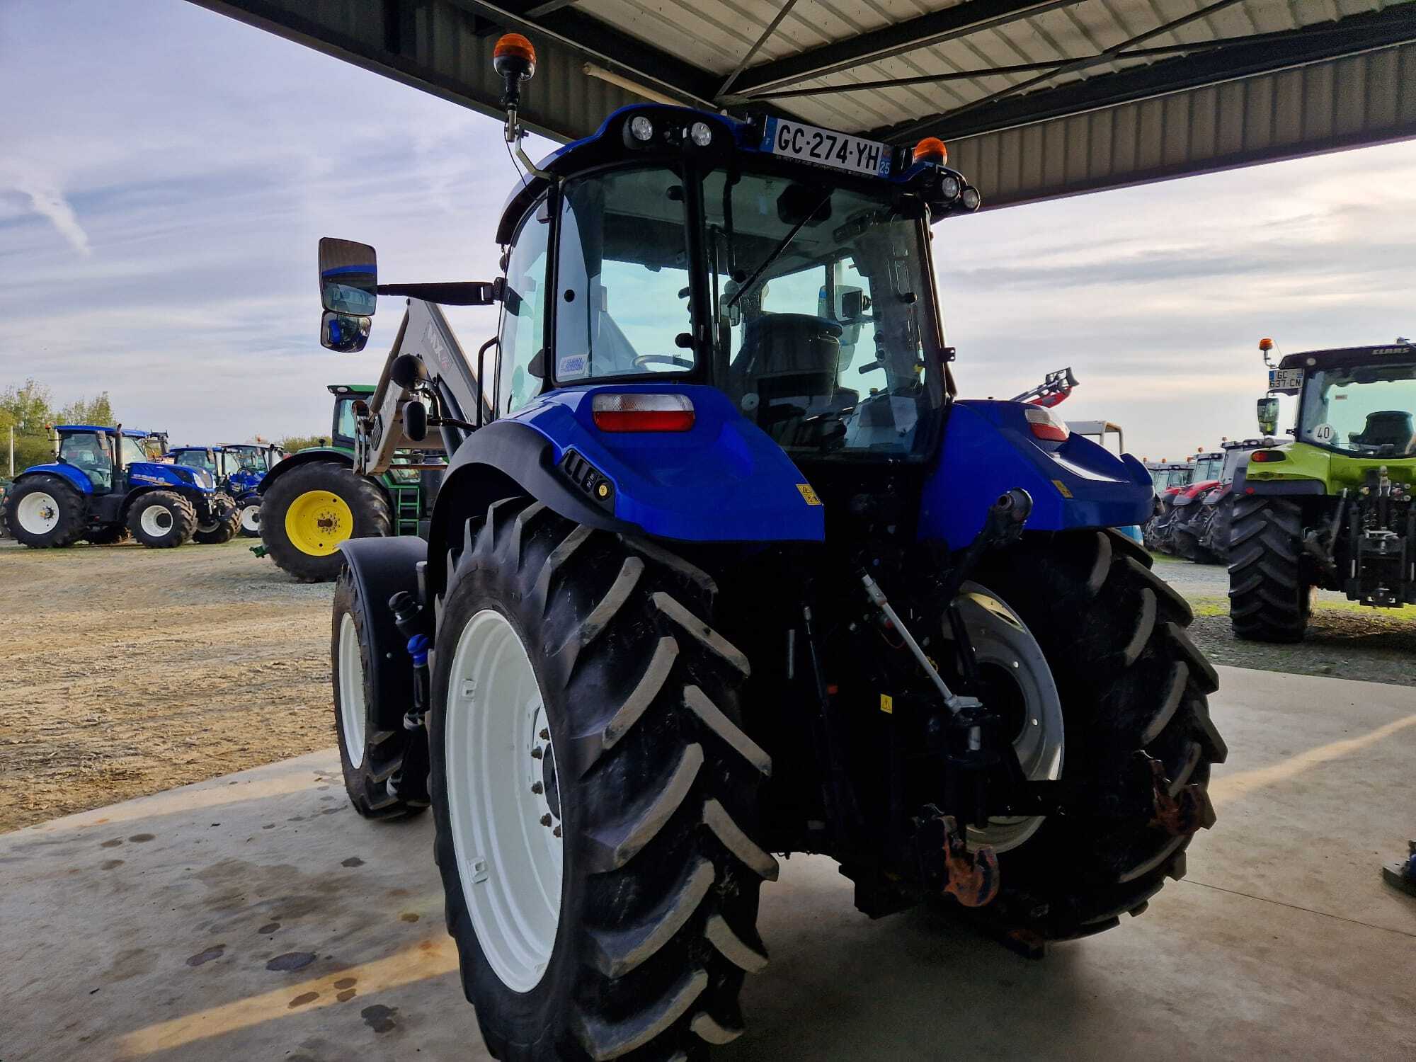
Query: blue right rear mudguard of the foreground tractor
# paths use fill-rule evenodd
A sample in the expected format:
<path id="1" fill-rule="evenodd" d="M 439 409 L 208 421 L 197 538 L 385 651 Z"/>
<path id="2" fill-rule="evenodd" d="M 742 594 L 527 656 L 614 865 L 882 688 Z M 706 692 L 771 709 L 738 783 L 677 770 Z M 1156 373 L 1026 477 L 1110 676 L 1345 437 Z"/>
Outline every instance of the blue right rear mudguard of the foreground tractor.
<path id="1" fill-rule="evenodd" d="M 1133 456 L 1080 435 L 1037 438 L 1021 402 L 959 401 L 944 426 L 939 466 L 925 483 L 919 538 L 960 549 L 988 506 L 1014 487 L 1032 496 L 1028 531 L 1126 527 L 1151 517 L 1154 490 Z"/>

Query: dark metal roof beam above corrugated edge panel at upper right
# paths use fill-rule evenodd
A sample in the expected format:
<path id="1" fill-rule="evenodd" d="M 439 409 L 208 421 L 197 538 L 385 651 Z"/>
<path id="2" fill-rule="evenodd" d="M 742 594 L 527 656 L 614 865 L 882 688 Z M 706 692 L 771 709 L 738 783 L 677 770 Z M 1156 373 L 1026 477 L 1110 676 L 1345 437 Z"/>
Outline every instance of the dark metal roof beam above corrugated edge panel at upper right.
<path id="1" fill-rule="evenodd" d="M 879 126 L 867 135 L 882 140 L 918 136 L 957 140 L 1409 41 L 1416 41 L 1416 4 L 1400 4 L 1374 14 L 1348 16 L 1340 23 L 1320 23 L 1301 30 L 1266 34 L 1255 44 L 1232 44 L 1022 96 L 1010 96 L 981 108 L 966 105 L 956 113 L 944 112 L 927 122 Z"/>

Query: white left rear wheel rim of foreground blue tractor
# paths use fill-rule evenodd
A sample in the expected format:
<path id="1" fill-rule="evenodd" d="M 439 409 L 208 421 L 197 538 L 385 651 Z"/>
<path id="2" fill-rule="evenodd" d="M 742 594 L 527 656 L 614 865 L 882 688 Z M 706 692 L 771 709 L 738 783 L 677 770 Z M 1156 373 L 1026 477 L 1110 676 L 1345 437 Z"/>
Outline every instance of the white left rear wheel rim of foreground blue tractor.
<path id="1" fill-rule="evenodd" d="M 555 749 L 541 736 L 549 735 L 545 701 L 521 639 L 500 612 L 479 612 L 463 627 L 445 719 L 447 814 L 463 899 L 493 971 L 527 993 L 555 949 L 565 857 Z"/>

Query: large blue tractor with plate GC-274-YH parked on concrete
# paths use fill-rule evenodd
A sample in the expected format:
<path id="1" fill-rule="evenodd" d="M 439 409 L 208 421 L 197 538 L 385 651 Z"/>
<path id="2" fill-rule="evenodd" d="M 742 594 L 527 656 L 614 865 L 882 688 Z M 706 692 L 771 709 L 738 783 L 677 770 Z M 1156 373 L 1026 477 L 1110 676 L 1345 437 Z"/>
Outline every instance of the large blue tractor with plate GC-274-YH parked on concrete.
<path id="1" fill-rule="evenodd" d="M 497 44 L 511 144 L 532 64 Z M 943 144 L 644 103 L 523 161 L 493 283 L 320 248 L 326 346 L 408 297 L 360 470 L 449 456 L 426 539 L 340 545 L 344 780 L 432 806 L 491 1055 L 736 1037 L 772 852 L 1029 947 L 1138 915 L 1214 821 L 1215 671 L 1116 531 L 1141 464 L 956 396 Z M 464 357 L 439 303 L 497 334 Z"/>

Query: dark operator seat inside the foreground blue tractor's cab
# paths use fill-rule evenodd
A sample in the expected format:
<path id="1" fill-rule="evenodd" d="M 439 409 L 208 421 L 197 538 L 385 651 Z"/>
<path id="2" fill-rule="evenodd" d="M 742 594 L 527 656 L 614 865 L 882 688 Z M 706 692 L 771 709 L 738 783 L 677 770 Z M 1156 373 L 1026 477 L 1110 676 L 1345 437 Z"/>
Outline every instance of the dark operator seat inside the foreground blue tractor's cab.
<path id="1" fill-rule="evenodd" d="M 841 333 L 835 321 L 807 313 L 765 313 L 746 321 L 729 385 L 743 412 L 777 442 L 792 445 L 809 412 L 855 405 L 857 392 L 835 385 Z"/>

